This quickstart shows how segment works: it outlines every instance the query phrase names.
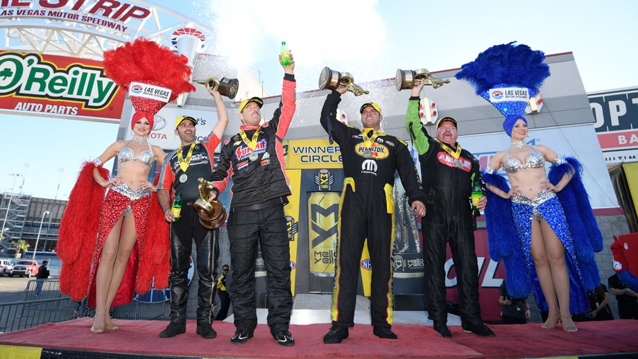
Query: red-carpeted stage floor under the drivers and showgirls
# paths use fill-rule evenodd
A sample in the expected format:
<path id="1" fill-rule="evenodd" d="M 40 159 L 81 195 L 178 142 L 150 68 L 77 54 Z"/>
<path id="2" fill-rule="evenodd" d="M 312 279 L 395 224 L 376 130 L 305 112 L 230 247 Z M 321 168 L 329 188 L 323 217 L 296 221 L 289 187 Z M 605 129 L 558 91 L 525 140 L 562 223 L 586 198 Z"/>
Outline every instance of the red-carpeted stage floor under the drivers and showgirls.
<path id="1" fill-rule="evenodd" d="M 540 324 L 491 325 L 496 338 L 480 338 L 451 326 L 451 339 L 444 339 L 431 326 L 395 324 L 399 340 L 372 335 L 372 327 L 357 324 L 341 344 L 323 344 L 330 324 L 293 325 L 295 347 L 282 347 L 259 324 L 255 338 L 233 345 L 234 326 L 215 322 L 215 339 L 202 339 L 189 321 L 187 333 L 175 338 L 157 336 L 167 322 L 114 321 L 119 331 L 92 334 L 91 318 L 0 335 L 0 358 L 537 358 L 614 353 L 638 355 L 638 320 L 580 322 L 578 333 L 562 329 L 544 330 Z M 34 347 L 34 348 L 27 348 Z M 41 352 L 40 352 L 40 349 Z M 100 353 L 103 352 L 103 353 Z M 10 356 L 17 353 L 17 356 Z M 28 356 L 33 353 L 33 356 Z M 117 353 L 106 355 L 105 353 Z M 51 354 L 51 355 L 49 355 Z M 626 358 L 628 356 L 617 355 Z"/>

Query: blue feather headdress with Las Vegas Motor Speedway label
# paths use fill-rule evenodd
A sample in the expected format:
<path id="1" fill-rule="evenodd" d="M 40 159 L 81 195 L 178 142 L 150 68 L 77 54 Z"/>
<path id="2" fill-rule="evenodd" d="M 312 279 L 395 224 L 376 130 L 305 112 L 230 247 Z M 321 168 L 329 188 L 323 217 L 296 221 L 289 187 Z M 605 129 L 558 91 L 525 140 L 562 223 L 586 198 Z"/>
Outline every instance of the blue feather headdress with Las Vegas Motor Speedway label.
<path id="1" fill-rule="evenodd" d="M 456 78 L 469 82 L 478 96 L 490 101 L 504 116 L 521 116 L 529 97 L 538 93 L 549 76 L 549 66 L 543 60 L 545 54 L 542 51 L 510 42 L 479 53 L 476 60 L 461 67 Z M 527 100 L 520 93 L 504 93 L 501 90 L 504 87 L 527 89 Z"/>

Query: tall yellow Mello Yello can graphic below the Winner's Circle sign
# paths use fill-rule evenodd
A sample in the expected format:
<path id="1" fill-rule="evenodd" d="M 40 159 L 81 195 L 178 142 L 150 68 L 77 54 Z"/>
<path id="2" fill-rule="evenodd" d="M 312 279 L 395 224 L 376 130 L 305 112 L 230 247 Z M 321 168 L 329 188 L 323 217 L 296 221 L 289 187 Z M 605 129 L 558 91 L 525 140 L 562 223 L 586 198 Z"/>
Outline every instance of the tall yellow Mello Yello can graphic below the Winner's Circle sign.
<path id="1" fill-rule="evenodd" d="M 339 225 L 340 193 L 315 192 L 308 200 L 310 272 L 334 276 Z"/>

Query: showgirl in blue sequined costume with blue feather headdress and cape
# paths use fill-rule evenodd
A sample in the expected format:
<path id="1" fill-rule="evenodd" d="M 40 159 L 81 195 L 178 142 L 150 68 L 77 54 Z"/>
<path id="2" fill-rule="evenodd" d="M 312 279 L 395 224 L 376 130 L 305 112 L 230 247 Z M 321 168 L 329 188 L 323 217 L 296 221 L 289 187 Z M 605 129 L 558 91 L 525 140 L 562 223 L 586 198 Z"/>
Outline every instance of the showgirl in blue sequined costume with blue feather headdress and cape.
<path id="1" fill-rule="evenodd" d="M 578 331 L 571 313 L 587 312 L 587 290 L 600 283 L 594 252 L 603 249 L 603 236 L 580 180 L 580 163 L 525 141 L 528 96 L 549 76 L 543 60 L 541 51 L 526 45 L 492 46 L 463 65 L 456 78 L 470 82 L 506 116 L 503 129 L 512 139 L 483 173 L 490 190 L 485 209 L 490 256 L 503 260 L 512 297 L 534 290 L 540 310 L 548 311 L 542 328 L 555 328 L 561 319 L 564 331 Z M 549 178 L 545 161 L 552 164 Z M 497 173 L 501 167 L 511 188 Z"/>

